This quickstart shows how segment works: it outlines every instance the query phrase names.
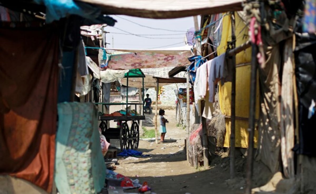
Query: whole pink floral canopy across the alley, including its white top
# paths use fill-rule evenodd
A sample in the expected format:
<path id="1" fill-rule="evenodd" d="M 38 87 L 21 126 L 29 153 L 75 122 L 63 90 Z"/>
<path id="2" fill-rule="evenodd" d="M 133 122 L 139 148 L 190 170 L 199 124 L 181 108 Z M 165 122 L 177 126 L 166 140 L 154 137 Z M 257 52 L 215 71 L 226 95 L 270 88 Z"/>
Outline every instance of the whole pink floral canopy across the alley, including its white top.
<path id="1" fill-rule="evenodd" d="M 188 65 L 188 57 L 192 55 L 191 46 L 169 49 L 126 50 L 128 53 L 111 55 L 108 64 L 109 69 L 135 69 L 135 68 L 165 68 Z"/>

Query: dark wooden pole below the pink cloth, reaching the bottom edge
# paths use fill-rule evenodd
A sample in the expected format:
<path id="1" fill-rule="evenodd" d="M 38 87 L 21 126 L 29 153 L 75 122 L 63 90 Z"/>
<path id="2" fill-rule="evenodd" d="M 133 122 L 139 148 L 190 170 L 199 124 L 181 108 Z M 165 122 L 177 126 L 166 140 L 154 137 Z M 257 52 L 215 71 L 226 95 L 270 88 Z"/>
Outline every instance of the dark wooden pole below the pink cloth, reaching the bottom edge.
<path id="1" fill-rule="evenodd" d="M 256 86 L 257 86 L 257 60 L 258 47 L 252 44 L 251 53 L 251 77 L 250 77 L 250 102 L 249 102 L 249 142 L 248 157 L 246 164 L 246 194 L 251 194 L 252 187 L 252 171 L 253 171 L 253 134 L 255 127 L 255 111 L 256 111 Z"/>

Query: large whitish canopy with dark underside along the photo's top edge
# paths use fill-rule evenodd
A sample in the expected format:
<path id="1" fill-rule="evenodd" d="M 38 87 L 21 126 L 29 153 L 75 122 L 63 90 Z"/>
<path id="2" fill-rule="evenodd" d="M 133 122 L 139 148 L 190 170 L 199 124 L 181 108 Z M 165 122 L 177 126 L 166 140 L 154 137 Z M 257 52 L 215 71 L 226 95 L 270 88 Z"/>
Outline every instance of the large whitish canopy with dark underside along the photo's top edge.
<path id="1" fill-rule="evenodd" d="M 104 14 L 144 18 L 180 18 L 242 10 L 244 0 L 77 0 L 98 6 Z"/>

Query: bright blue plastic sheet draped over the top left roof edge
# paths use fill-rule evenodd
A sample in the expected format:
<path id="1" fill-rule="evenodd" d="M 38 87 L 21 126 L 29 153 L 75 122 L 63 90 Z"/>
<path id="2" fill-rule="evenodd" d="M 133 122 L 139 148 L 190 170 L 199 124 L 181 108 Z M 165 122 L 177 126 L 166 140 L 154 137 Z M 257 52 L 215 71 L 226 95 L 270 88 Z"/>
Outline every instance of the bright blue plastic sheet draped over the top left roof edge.
<path id="1" fill-rule="evenodd" d="M 74 2 L 73 0 L 33 0 L 37 4 L 46 6 L 46 22 L 51 23 L 67 15 L 79 15 L 83 18 L 92 20 L 95 23 L 106 23 L 109 26 L 114 26 L 116 22 L 111 17 L 104 17 L 101 10 L 88 3 Z"/>

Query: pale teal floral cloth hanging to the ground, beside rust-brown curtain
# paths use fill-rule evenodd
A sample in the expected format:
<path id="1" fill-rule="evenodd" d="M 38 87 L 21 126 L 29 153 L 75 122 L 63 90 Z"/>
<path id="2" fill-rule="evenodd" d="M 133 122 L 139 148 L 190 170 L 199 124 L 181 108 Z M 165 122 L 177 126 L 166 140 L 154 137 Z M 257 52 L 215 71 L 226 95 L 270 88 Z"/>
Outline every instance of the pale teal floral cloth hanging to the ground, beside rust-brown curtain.
<path id="1" fill-rule="evenodd" d="M 92 103 L 59 103 L 55 182 L 60 194 L 93 194 L 104 186 L 106 166 Z"/>

